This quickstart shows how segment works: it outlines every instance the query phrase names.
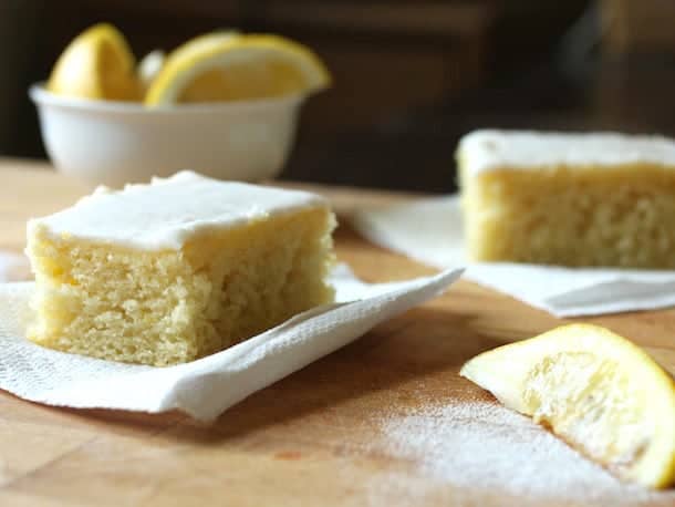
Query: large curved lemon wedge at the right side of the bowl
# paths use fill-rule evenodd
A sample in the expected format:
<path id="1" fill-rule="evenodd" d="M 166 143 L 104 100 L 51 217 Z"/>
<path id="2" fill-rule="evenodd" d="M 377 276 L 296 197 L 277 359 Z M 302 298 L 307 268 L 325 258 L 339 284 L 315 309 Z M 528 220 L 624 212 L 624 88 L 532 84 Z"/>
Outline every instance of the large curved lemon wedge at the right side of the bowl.
<path id="1" fill-rule="evenodd" d="M 205 35 L 174 51 L 145 104 L 239 101 L 310 93 L 331 76 L 308 48 L 278 35 Z"/>

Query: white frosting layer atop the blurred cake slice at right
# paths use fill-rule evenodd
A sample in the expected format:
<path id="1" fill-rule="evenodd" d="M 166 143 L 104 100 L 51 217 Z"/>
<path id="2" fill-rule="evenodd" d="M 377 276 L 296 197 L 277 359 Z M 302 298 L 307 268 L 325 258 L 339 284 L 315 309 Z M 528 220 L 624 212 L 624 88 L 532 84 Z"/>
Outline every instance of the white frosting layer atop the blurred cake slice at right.
<path id="1" fill-rule="evenodd" d="M 467 176 L 486 170 L 553 166 L 610 167 L 654 164 L 675 167 L 675 142 L 661 136 L 475 131 L 459 142 Z"/>

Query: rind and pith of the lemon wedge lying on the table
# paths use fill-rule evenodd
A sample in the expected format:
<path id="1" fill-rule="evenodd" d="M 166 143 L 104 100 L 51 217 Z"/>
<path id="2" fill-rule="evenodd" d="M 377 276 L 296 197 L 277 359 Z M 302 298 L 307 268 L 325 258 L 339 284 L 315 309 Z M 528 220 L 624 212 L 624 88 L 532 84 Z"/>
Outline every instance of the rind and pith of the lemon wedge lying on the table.
<path id="1" fill-rule="evenodd" d="M 509 408 L 532 416 L 523 400 L 528 373 L 544 358 L 557 353 L 595 354 L 626 372 L 632 385 L 638 386 L 648 410 L 641 414 L 653 428 L 644 453 L 629 468 L 615 469 L 632 482 L 654 488 L 675 480 L 675 382 L 645 351 L 631 341 L 598 325 L 568 324 L 529 340 L 484 352 L 469 360 L 460 375 L 490 391 Z M 553 433 L 555 425 L 551 425 Z M 583 448 L 580 449 L 583 452 Z"/>

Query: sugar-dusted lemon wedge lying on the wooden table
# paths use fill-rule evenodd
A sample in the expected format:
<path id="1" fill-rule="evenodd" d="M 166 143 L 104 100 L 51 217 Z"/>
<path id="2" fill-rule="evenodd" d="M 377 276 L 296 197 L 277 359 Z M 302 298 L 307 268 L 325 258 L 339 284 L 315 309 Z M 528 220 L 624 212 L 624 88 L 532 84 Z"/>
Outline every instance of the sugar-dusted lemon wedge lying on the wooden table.
<path id="1" fill-rule="evenodd" d="M 563 325 L 477 355 L 460 375 L 621 478 L 675 480 L 675 382 L 604 328 Z"/>

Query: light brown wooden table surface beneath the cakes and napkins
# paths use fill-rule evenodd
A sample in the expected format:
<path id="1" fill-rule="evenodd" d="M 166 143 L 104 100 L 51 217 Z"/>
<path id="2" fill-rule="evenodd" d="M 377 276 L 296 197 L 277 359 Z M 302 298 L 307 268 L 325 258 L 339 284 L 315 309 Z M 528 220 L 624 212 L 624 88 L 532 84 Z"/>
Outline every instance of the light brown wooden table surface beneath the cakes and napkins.
<path id="1" fill-rule="evenodd" d="M 357 205 L 405 198 L 316 190 L 333 198 L 341 215 Z M 28 217 L 68 206 L 86 192 L 43 164 L 0 161 L 0 248 L 20 250 Z M 433 271 L 367 244 L 344 226 L 336 246 L 340 258 L 366 280 Z M 660 361 L 675 364 L 673 310 L 585 320 L 631 337 Z M 439 484 L 409 456 L 371 446 L 381 436 L 383 414 L 393 410 L 414 412 L 429 400 L 492 403 L 457 375 L 460 365 L 480 351 L 560 323 L 460 281 L 447 294 L 250 396 L 212 425 L 178 413 L 62 410 L 0 392 L 0 505 L 570 505 L 564 498 L 543 503 L 478 484 Z M 385 476 L 395 479 L 382 483 Z M 655 496 L 650 505 L 675 505 L 675 495 Z"/>

